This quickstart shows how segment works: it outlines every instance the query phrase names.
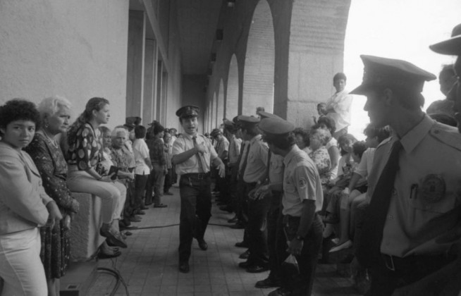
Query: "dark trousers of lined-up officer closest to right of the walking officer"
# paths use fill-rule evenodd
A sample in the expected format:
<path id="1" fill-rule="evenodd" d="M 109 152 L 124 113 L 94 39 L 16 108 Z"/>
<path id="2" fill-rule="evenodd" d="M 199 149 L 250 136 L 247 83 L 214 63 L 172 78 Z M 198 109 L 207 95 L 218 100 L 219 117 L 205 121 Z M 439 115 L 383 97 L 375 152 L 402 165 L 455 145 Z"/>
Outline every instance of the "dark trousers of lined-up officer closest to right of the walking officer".
<path id="1" fill-rule="evenodd" d="M 256 183 L 245 183 L 245 196 L 256 187 Z M 247 238 L 250 245 L 251 265 L 263 266 L 269 263 L 269 249 L 267 247 L 267 213 L 271 199 L 251 199 L 248 197 Z"/>

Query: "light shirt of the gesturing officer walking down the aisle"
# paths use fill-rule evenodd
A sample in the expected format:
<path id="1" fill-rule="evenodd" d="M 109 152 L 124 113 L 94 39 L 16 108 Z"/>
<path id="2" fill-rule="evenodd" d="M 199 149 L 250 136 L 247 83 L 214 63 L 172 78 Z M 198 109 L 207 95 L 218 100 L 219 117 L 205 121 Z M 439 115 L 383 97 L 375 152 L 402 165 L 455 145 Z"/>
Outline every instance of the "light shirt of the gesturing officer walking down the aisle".
<path id="1" fill-rule="evenodd" d="M 205 137 L 204 135 L 197 134 L 197 144 L 204 144 L 206 147 L 204 154 L 194 154 L 190 157 L 190 159 L 184 161 L 181 164 L 176 164 L 176 173 L 178 175 L 184 175 L 185 173 L 199 173 L 199 161 L 197 157 L 200 157 L 200 161 L 202 162 L 202 166 L 204 166 L 204 173 L 208 173 L 210 171 L 210 164 L 211 161 L 218 157 L 216 150 L 213 147 L 213 144 Z M 181 134 L 176 141 L 173 143 L 173 157 L 177 154 L 181 154 L 186 152 L 190 149 L 193 149 L 194 140 L 192 139 L 192 135 L 188 133 Z"/>

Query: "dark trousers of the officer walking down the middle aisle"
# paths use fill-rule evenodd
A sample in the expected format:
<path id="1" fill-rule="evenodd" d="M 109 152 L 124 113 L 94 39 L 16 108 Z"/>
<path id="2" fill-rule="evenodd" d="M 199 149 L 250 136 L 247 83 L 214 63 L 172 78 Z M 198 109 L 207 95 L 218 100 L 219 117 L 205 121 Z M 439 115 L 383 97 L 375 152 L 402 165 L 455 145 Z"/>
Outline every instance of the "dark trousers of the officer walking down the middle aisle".
<path id="1" fill-rule="evenodd" d="M 178 251 L 180 262 L 189 260 L 192 239 L 204 237 L 211 217 L 211 179 L 209 175 L 205 178 L 199 178 L 197 175 L 183 175 L 179 180 L 181 211 Z"/>

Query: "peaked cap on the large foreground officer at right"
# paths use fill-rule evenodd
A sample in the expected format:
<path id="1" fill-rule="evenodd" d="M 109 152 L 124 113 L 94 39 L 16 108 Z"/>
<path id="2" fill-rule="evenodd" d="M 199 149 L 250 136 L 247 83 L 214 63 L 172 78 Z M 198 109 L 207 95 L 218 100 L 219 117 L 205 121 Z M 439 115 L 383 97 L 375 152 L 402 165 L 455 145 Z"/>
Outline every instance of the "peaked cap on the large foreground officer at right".
<path id="1" fill-rule="evenodd" d="M 364 64 L 362 85 L 350 94 L 367 94 L 378 87 L 397 87 L 422 92 L 425 81 L 436 79 L 434 74 L 407 61 L 365 55 L 360 58 Z"/>

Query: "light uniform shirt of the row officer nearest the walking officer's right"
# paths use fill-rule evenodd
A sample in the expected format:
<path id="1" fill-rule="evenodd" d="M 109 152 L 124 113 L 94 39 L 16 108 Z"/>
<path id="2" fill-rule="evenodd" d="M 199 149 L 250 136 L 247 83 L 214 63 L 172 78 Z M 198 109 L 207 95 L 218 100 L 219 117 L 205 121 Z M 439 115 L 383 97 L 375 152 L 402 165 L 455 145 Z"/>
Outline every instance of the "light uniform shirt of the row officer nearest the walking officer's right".
<path id="1" fill-rule="evenodd" d="M 269 147 L 267 147 L 265 142 L 262 142 L 261 135 L 256 135 L 250 140 L 247 166 L 245 168 L 245 173 L 243 173 L 243 180 L 246 183 L 254 183 L 264 179 L 267 170 L 268 151 Z"/>

